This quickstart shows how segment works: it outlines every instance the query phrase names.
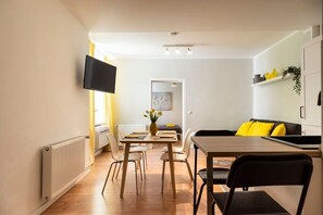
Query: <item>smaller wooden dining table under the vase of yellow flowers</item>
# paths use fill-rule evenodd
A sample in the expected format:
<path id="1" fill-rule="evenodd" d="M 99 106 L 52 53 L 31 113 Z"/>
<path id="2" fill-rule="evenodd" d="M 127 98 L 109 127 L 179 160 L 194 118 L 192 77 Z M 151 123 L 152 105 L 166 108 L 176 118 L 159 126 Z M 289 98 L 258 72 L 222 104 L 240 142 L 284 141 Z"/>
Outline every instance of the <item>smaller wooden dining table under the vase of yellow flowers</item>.
<path id="1" fill-rule="evenodd" d="M 175 130 L 159 130 L 156 136 L 152 136 L 151 134 L 149 134 L 147 131 L 136 131 L 136 132 L 126 135 L 124 138 L 122 138 L 120 140 L 120 142 L 125 146 L 124 147 L 124 162 L 123 162 L 120 198 L 123 198 L 123 194 L 124 194 L 131 144 L 133 144 L 133 143 L 139 143 L 139 144 L 151 143 L 151 144 L 166 144 L 167 146 L 173 198 L 175 199 L 176 198 L 176 184 L 175 184 L 175 174 L 174 174 L 173 144 L 177 142 L 176 131 Z"/>

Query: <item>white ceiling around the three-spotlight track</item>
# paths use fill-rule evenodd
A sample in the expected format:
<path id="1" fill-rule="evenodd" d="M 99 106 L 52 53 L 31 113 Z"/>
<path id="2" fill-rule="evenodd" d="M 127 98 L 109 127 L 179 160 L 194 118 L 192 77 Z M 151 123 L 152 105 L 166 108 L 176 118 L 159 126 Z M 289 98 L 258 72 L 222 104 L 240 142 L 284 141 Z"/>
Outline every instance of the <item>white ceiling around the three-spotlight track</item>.
<path id="1" fill-rule="evenodd" d="M 100 52 L 113 58 L 252 58 L 293 31 L 322 23 L 322 0 L 61 2 Z M 163 45 L 187 43 L 192 55 L 164 54 Z"/>

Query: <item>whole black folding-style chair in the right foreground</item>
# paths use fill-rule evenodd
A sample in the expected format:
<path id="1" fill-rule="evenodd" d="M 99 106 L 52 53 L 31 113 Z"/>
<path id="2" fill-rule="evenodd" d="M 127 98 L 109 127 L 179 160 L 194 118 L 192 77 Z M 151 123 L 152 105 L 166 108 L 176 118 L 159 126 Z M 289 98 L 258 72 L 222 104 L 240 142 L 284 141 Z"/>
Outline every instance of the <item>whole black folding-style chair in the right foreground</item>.
<path id="1" fill-rule="evenodd" d="M 265 191 L 235 191 L 236 188 L 259 186 L 302 186 L 297 215 L 305 204 L 313 172 L 312 159 L 306 154 L 241 155 L 237 157 L 226 180 L 229 192 L 214 192 L 223 215 L 228 214 L 289 214 Z"/>

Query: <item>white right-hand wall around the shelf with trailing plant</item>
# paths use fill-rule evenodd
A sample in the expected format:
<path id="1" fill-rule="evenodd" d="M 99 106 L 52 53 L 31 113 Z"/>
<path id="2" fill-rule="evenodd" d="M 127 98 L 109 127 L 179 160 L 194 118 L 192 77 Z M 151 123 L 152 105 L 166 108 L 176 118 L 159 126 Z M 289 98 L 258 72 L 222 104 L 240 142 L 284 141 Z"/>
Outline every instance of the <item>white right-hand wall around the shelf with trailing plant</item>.
<path id="1" fill-rule="evenodd" d="M 253 59 L 253 74 L 264 74 L 276 68 L 282 73 L 288 66 L 300 66 L 301 46 L 310 39 L 310 31 L 298 31 L 274 45 Z M 300 96 L 294 90 L 291 79 L 253 87 L 253 116 L 300 123 Z"/>

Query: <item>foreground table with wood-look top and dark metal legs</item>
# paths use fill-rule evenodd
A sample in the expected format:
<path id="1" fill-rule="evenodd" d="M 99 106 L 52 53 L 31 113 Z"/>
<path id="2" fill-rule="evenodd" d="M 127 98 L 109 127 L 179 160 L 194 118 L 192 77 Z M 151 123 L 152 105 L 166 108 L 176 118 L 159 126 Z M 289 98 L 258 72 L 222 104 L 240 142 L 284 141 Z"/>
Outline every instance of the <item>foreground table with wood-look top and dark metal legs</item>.
<path id="1" fill-rule="evenodd" d="M 286 154 L 305 153 L 312 157 L 321 157 L 320 149 L 299 149 L 287 144 L 278 143 L 261 137 L 192 137 L 195 148 L 195 178 L 194 178 L 194 211 L 196 206 L 196 184 L 197 184 L 197 159 L 198 150 L 207 157 L 207 207 L 208 214 L 212 214 L 212 194 L 213 193 L 213 157 L 233 157 L 244 154 Z"/>

